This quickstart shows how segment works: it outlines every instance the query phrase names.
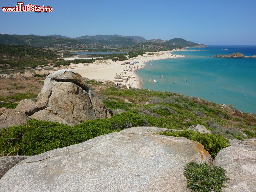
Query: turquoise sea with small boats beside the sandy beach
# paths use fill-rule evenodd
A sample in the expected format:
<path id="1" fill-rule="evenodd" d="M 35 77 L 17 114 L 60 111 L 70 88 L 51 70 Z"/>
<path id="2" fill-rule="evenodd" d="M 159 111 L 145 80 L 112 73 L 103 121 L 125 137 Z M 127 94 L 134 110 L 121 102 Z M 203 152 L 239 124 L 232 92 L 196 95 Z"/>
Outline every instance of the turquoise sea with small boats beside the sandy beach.
<path id="1" fill-rule="evenodd" d="M 203 51 L 176 51 L 173 53 L 187 57 L 150 61 L 137 70 L 137 74 L 145 79 L 142 79 L 142 87 L 199 97 L 218 104 L 231 103 L 233 108 L 256 113 L 256 59 L 210 57 L 235 52 L 253 56 L 256 55 L 256 46 L 189 49 Z M 159 78 L 162 74 L 164 77 Z M 150 78 L 159 83 L 149 82 Z"/>

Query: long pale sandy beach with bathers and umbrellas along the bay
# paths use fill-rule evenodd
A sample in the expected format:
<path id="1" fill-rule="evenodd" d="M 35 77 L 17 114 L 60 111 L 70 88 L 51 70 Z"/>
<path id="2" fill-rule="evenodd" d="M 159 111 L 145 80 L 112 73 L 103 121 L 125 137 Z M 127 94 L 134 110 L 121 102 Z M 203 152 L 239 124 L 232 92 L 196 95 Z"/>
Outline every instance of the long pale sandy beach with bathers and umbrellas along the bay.
<path id="1" fill-rule="evenodd" d="M 147 55 L 148 53 L 153 53 L 154 55 Z M 136 58 L 131 58 L 126 61 L 114 62 L 112 60 L 98 60 L 93 63 L 79 63 L 79 64 L 71 63 L 71 65 L 68 66 L 68 68 L 78 72 L 82 77 L 87 77 L 88 79 L 95 79 L 97 81 L 110 80 L 110 81 L 114 81 L 116 84 L 122 83 L 126 85 L 126 87 L 141 88 L 142 87 L 141 78 L 137 76 L 135 71 L 143 68 L 145 66 L 145 62 L 158 60 L 158 59 L 177 58 L 177 57 L 185 57 L 185 56 L 174 55 L 170 51 L 147 52 L 146 54 L 143 54 L 143 56 L 139 55 Z M 78 57 L 76 56 L 76 57 L 68 58 L 68 60 L 74 60 L 74 59 L 78 59 Z M 90 59 L 90 58 L 87 58 L 87 59 Z M 134 65 L 130 65 L 130 64 L 121 65 L 126 62 L 131 62 L 131 63 L 137 62 L 137 63 Z"/>

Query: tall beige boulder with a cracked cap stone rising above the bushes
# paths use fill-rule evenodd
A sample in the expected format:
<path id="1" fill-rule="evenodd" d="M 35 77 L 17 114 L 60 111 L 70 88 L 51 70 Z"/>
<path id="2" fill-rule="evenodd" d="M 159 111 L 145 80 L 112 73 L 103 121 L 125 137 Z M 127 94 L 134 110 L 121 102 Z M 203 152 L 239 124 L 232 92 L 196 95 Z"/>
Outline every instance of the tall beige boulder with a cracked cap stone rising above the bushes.
<path id="1" fill-rule="evenodd" d="M 74 125 L 89 119 L 107 118 L 105 105 L 89 90 L 84 78 L 69 69 L 48 75 L 37 101 L 45 109 L 31 115 L 31 119 Z"/>

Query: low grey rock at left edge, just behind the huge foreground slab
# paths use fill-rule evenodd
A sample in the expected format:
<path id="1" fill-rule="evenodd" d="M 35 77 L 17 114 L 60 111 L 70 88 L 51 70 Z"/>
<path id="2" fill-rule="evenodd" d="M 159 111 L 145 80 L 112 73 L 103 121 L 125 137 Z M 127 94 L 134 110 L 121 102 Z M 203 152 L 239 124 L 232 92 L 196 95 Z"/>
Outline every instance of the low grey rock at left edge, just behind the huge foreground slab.
<path id="1" fill-rule="evenodd" d="M 4 176 L 4 174 L 12 168 L 14 165 L 18 164 L 19 162 L 23 161 L 26 158 L 31 156 L 3 156 L 0 157 L 0 179 Z"/>

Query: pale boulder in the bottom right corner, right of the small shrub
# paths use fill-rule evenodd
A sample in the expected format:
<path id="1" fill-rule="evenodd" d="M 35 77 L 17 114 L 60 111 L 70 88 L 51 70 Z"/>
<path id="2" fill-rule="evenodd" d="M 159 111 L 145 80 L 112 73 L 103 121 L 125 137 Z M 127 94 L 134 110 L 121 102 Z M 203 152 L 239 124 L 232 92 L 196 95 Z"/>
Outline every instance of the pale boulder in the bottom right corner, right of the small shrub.
<path id="1" fill-rule="evenodd" d="M 246 140 L 239 146 L 223 148 L 214 160 L 215 165 L 227 170 L 226 175 L 231 179 L 223 191 L 256 191 L 256 140 Z"/>

